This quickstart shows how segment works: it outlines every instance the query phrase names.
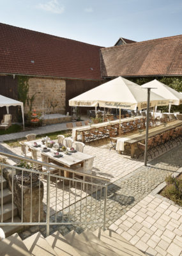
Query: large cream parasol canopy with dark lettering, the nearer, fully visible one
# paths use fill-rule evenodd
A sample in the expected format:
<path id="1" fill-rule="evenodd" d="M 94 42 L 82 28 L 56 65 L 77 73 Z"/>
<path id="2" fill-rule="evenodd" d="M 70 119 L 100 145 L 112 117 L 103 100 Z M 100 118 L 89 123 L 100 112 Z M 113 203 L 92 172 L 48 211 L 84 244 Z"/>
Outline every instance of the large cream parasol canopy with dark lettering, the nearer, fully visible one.
<path id="1" fill-rule="evenodd" d="M 118 109 L 147 108 L 148 92 L 121 76 L 69 100 L 70 106 L 99 106 Z M 166 106 L 169 100 L 151 92 L 150 107 Z"/>

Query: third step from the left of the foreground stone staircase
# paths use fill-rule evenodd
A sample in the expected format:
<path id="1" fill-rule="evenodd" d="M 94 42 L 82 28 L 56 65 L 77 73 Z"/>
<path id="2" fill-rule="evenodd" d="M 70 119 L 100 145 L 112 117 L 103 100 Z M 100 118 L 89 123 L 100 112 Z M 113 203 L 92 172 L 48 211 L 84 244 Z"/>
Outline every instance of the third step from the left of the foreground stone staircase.
<path id="1" fill-rule="evenodd" d="M 57 255 L 80 256 L 80 254 L 70 245 L 59 231 L 45 238 Z"/>

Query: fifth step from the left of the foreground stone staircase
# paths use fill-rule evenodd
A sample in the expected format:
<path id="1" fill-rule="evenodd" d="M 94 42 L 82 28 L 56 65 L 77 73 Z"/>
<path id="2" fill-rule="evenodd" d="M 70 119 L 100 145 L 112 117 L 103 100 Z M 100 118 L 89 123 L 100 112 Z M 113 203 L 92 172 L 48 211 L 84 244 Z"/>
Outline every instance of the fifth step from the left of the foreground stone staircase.
<path id="1" fill-rule="evenodd" d="M 107 246 L 106 243 L 104 243 L 102 240 L 98 239 L 93 232 L 89 230 L 85 230 L 82 232 L 82 234 L 79 235 L 82 241 L 86 241 L 88 244 L 90 244 L 96 252 L 100 253 L 101 255 L 105 256 L 118 256 L 118 253 L 114 252 L 109 246 Z"/>

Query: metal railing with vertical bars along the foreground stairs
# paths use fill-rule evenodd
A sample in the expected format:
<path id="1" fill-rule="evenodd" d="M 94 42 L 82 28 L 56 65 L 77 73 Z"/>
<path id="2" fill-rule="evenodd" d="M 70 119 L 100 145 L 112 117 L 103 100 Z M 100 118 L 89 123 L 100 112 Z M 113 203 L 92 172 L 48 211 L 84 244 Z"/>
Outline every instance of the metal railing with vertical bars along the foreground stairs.
<path id="1" fill-rule="evenodd" d="M 59 171 L 76 173 L 83 176 L 83 173 L 76 170 L 57 166 L 56 164 L 43 163 L 27 157 L 17 156 L 0 152 L 0 155 L 32 163 L 35 166 L 45 166 L 46 172 L 12 166 L 10 164 L 0 163 L 1 166 L 1 218 L 0 225 L 46 225 L 46 234 L 49 236 L 50 225 L 103 225 L 105 230 L 106 206 L 107 206 L 107 182 L 108 179 L 86 174 L 91 178 L 91 182 L 82 179 L 72 179 L 62 175 L 52 174 L 50 168 Z M 9 186 L 11 188 L 11 221 L 3 220 L 3 170 L 8 170 Z M 29 173 L 29 185 L 25 184 L 24 175 Z M 37 179 L 34 180 L 34 173 Z M 19 182 L 16 179 L 18 174 Z M 50 182 L 54 179 L 53 182 Z M 96 181 L 93 182 L 93 179 Z M 43 181 L 42 181 L 43 180 Z M 17 185 L 18 184 L 18 185 Z M 16 187 L 16 189 L 15 189 Z M 17 188 L 19 187 L 19 195 Z M 27 189 L 27 187 L 29 189 Z M 43 188 L 44 187 L 44 188 Z M 36 193 L 33 189 L 36 188 Z M 25 202 L 26 196 L 29 196 L 30 205 Z M 46 190 L 44 193 L 44 190 Z M 16 200 L 15 200 L 16 199 Z M 26 198 L 27 201 L 27 198 Z M 20 222 L 14 221 L 14 204 L 18 202 Z M 6 203 L 5 203 L 6 204 Z M 45 206 L 46 218 L 43 218 L 43 204 Z M 28 214 L 25 214 L 29 209 Z M 45 216 L 44 214 L 44 216 Z M 29 220 L 27 220 L 29 219 Z"/>

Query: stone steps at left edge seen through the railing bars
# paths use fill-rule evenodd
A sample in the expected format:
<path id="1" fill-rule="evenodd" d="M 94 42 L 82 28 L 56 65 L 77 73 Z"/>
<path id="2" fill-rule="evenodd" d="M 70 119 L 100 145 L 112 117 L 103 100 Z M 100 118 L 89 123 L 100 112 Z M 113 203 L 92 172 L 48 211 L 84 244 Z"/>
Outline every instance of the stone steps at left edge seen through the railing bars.
<path id="1" fill-rule="evenodd" d="M 2 215 L 2 207 L 1 207 L 1 198 L 2 198 L 2 191 L 1 191 L 1 183 L 3 183 L 3 221 L 4 222 L 11 222 L 11 214 L 12 214 L 12 205 L 11 205 L 11 191 L 7 188 L 6 180 L 3 177 L 1 180 L 0 176 L 0 221 Z M 21 222 L 20 218 L 17 216 L 17 207 L 13 205 L 13 216 L 14 222 Z M 4 234 L 6 237 L 11 236 L 11 234 L 18 232 L 23 227 L 22 226 L 1 226 L 3 228 Z"/>

